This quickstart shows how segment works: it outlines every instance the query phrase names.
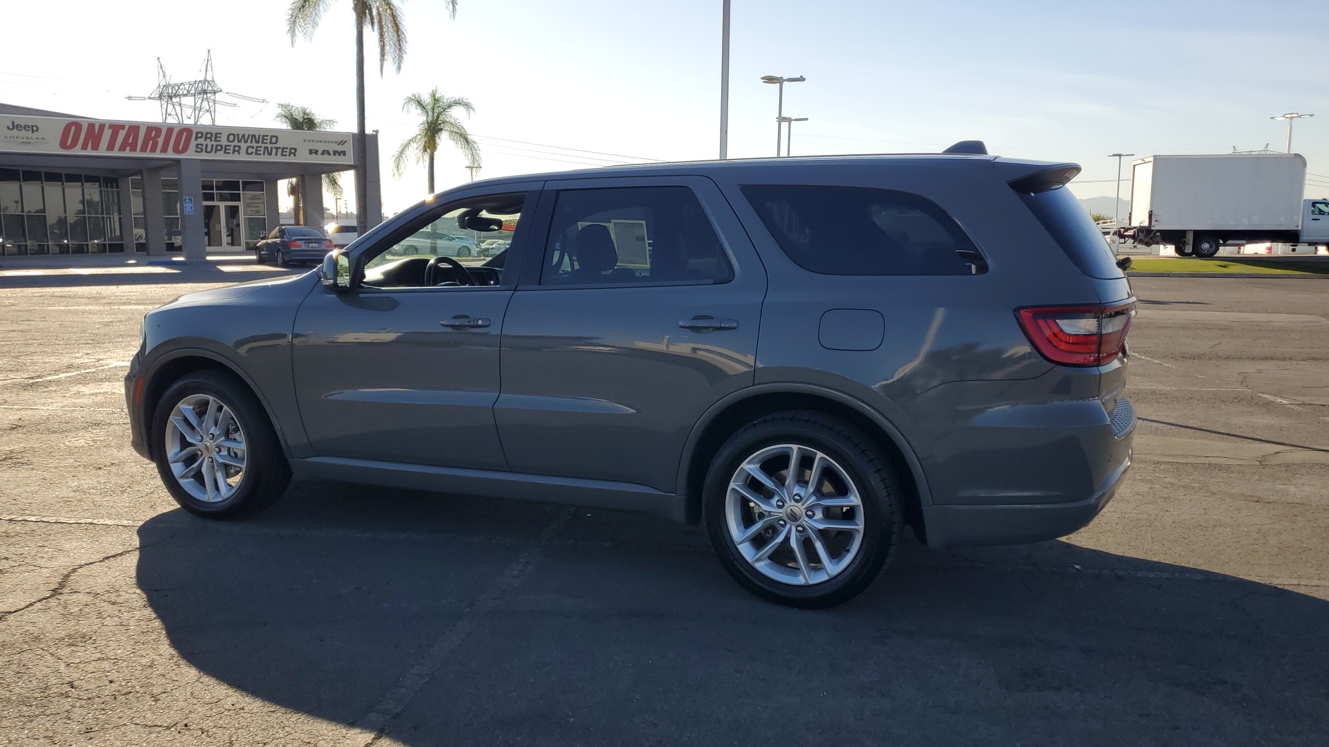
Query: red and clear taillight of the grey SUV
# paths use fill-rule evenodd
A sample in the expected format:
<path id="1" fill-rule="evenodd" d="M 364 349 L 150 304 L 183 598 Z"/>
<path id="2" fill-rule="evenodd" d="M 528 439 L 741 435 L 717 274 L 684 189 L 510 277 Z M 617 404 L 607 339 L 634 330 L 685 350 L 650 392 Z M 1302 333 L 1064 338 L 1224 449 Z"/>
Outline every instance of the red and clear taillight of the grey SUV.
<path id="1" fill-rule="evenodd" d="M 1015 310 L 1038 352 L 1062 366 L 1111 363 L 1126 344 L 1135 302 L 1098 306 L 1038 306 Z"/>

